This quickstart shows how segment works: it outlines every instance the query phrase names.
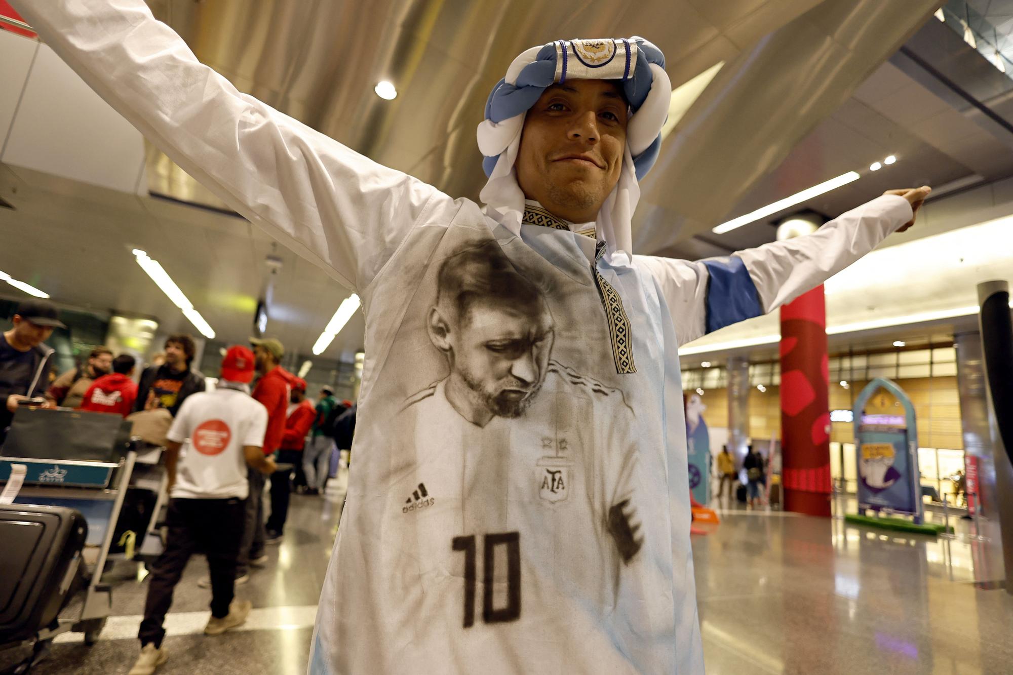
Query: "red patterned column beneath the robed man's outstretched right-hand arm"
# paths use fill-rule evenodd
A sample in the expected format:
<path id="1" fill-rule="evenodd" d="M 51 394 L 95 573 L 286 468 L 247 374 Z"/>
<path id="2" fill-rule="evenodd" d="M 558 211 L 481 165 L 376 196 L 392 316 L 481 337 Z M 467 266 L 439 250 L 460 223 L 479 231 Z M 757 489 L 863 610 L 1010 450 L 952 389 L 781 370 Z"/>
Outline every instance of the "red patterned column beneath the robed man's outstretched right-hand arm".
<path id="1" fill-rule="evenodd" d="M 784 508 L 830 517 L 827 305 L 820 286 L 781 307 Z"/>

